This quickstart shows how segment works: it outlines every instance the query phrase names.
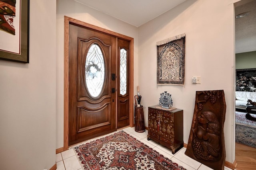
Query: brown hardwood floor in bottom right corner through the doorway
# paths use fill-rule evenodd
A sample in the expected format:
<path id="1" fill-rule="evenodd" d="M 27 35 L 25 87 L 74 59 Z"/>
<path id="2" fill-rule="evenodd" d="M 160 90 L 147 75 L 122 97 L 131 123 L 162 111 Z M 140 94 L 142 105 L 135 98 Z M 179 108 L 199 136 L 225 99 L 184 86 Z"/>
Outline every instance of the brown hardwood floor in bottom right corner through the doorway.
<path id="1" fill-rule="evenodd" d="M 256 170 L 256 148 L 236 143 L 236 169 Z"/>

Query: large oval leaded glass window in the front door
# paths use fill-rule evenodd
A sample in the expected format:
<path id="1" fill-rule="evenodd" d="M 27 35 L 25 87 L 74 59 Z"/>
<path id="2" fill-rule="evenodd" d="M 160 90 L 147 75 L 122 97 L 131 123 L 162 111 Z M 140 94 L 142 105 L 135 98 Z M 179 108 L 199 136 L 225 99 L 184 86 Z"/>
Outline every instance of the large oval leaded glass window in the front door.
<path id="1" fill-rule="evenodd" d="M 88 92 L 97 97 L 102 91 L 105 75 L 105 63 L 102 51 L 97 44 L 93 44 L 86 55 L 85 80 Z"/>

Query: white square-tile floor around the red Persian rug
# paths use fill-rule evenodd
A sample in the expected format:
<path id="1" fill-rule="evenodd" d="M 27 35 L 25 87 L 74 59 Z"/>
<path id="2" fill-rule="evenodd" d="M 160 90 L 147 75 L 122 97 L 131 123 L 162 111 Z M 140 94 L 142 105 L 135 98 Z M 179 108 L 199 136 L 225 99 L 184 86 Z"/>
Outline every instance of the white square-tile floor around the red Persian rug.
<path id="1" fill-rule="evenodd" d="M 212 170 L 211 168 L 205 166 L 204 164 L 201 164 L 200 162 L 197 162 L 196 160 L 186 156 L 184 154 L 186 148 L 182 148 L 178 152 L 176 152 L 176 154 L 172 154 L 170 149 L 167 149 L 166 147 L 159 145 L 153 140 L 148 141 L 147 131 L 144 133 L 138 133 L 134 130 L 134 127 L 128 127 L 122 130 L 188 170 Z M 56 154 L 56 164 L 57 170 L 82 170 L 82 166 L 80 165 L 80 162 L 78 161 L 73 149 L 69 149 L 64 152 Z M 224 169 L 231 170 L 226 166 Z"/>

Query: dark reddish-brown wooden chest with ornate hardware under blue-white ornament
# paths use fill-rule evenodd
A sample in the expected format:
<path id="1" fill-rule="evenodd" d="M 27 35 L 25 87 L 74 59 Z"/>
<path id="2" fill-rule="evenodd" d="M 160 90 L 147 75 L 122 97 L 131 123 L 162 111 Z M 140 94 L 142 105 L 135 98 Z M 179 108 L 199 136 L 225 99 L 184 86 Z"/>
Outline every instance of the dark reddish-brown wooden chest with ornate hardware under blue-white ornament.
<path id="1" fill-rule="evenodd" d="M 148 141 L 153 139 L 175 154 L 183 147 L 183 110 L 156 107 L 160 105 L 148 107 Z"/>

